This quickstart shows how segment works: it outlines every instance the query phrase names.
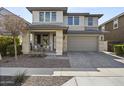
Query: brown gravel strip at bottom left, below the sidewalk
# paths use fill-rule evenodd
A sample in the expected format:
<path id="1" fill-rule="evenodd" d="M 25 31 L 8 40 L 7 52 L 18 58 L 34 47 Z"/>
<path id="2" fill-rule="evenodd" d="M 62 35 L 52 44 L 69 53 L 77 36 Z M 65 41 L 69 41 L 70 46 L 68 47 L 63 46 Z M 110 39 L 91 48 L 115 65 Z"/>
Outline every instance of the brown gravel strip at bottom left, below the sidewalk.
<path id="1" fill-rule="evenodd" d="M 6 84 L 0 83 L 0 85 L 14 86 L 13 83 L 7 83 L 8 81 L 12 82 L 14 78 L 13 76 L 0 76 L 1 82 L 6 81 Z M 25 77 L 22 86 L 61 86 L 71 78 L 71 76 L 31 76 Z"/>

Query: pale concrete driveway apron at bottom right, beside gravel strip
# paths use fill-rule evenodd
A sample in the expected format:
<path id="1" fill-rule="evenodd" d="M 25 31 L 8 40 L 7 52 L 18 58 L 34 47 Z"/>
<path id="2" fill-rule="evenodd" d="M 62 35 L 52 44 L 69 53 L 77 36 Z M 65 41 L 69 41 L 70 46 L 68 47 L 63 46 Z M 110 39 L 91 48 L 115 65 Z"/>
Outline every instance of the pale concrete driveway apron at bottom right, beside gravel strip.
<path id="1" fill-rule="evenodd" d="M 124 77 L 73 77 L 63 86 L 124 86 Z"/>

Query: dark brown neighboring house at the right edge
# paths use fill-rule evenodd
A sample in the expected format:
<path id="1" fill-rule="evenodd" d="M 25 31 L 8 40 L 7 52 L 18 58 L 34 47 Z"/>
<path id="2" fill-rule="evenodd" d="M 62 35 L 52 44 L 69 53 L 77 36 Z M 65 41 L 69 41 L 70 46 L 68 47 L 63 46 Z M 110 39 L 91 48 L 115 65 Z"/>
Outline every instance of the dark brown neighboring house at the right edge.
<path id="1" fill-rule="evenodd" d="M 124 43 L 124 13 L 121 13 L 99 26 L 102 31 L 108 31 L 104 34 L 105 40 L 110 43 Z"/>

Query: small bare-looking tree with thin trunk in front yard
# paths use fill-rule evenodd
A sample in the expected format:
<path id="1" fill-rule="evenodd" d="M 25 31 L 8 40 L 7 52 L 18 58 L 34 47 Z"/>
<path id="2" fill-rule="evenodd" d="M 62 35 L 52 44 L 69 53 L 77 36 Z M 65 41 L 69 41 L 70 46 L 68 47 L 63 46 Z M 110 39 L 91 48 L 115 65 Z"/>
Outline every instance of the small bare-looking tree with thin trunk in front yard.
<path id="1" fill-rule="evenodd" d="M 4 21 L 2 22 L 2 25 L 4 29 L 13 37 L 15 60 L 17 60 L 16 37 L 28 29 L 28 24 L 22 18 L 19 18 L 15 15 L 3 15 L 3 17 Z"/>

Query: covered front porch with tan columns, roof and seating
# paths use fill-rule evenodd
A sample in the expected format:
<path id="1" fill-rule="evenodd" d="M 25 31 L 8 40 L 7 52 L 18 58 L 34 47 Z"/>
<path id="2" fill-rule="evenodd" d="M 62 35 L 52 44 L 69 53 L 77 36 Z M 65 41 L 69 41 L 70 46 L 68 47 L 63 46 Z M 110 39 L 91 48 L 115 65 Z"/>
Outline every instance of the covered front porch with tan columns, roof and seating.
<path id="1" fill-rule="evenodd" d="M 63 54 L 63 37 L 67 27 L 31 25 L 30 31 L 23 35 L 23 54 L 46 52 Z"/>

